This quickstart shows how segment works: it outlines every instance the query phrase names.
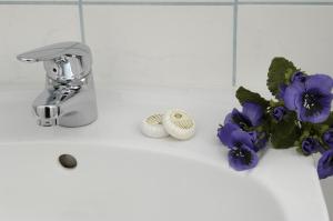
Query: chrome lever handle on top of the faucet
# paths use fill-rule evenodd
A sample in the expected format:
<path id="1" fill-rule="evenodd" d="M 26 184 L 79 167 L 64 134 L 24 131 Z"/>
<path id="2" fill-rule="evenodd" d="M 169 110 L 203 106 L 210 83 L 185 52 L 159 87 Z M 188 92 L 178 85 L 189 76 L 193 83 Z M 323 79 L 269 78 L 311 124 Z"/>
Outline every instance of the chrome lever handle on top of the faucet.
<path id="1" fill-rule="evenodd" d="M 91 51 L 80 42 L 61 42 L 19 54 L 23 62 L 43 61 L 49 78 L 56 81 L 82 79 L 91 72 Z"/>

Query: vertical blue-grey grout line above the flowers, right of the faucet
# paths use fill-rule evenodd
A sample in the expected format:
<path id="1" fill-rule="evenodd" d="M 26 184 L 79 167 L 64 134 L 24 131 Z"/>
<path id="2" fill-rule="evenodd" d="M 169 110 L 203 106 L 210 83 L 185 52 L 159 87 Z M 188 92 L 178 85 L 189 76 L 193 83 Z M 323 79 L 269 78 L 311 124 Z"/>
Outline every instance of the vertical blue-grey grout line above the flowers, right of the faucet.
<path id="1" fill-rule="evenodd" d="M 233 21 L 232 21 L 232 86 L 236 84 L 238 71 L 238 20 L 239 20 L 239 1 L 234 0 Z"/>

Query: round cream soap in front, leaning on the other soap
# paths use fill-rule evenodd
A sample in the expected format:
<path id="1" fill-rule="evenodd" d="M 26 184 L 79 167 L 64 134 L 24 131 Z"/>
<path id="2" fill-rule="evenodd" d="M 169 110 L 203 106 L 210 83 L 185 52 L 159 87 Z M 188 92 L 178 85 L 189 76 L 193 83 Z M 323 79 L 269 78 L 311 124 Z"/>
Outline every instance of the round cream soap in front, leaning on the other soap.
<path id="1" fill-rule="evenodd" d="M 183 110 L 169 110 L 163 115 L 163 125 L 167 132 L 175 139 L 188 140 L 194 135 L 195 122 Z"/>

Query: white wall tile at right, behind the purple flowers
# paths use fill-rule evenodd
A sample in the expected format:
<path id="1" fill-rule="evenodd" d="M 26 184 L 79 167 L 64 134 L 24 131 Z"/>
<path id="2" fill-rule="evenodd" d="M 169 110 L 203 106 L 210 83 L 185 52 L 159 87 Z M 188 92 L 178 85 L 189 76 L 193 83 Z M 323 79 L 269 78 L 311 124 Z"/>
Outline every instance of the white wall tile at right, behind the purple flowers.
<path id="1" fill-rule="evenodd" d="M 309 73 L 333 76 L 332 21 L 333 7 L 241 6 L 238 84 L 264 91 L 271 59 L 276 56 Z"/>

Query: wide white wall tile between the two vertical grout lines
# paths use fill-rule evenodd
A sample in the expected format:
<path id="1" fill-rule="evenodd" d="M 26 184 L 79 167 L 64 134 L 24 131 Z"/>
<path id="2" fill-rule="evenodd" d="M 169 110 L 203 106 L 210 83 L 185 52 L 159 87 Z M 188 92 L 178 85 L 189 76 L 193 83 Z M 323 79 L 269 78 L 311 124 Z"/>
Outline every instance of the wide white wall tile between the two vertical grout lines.
<path id="1" fill-rule="evenodd" d="M 83 9 L 97 81 L 231 86 L 232 7 Z"/>

